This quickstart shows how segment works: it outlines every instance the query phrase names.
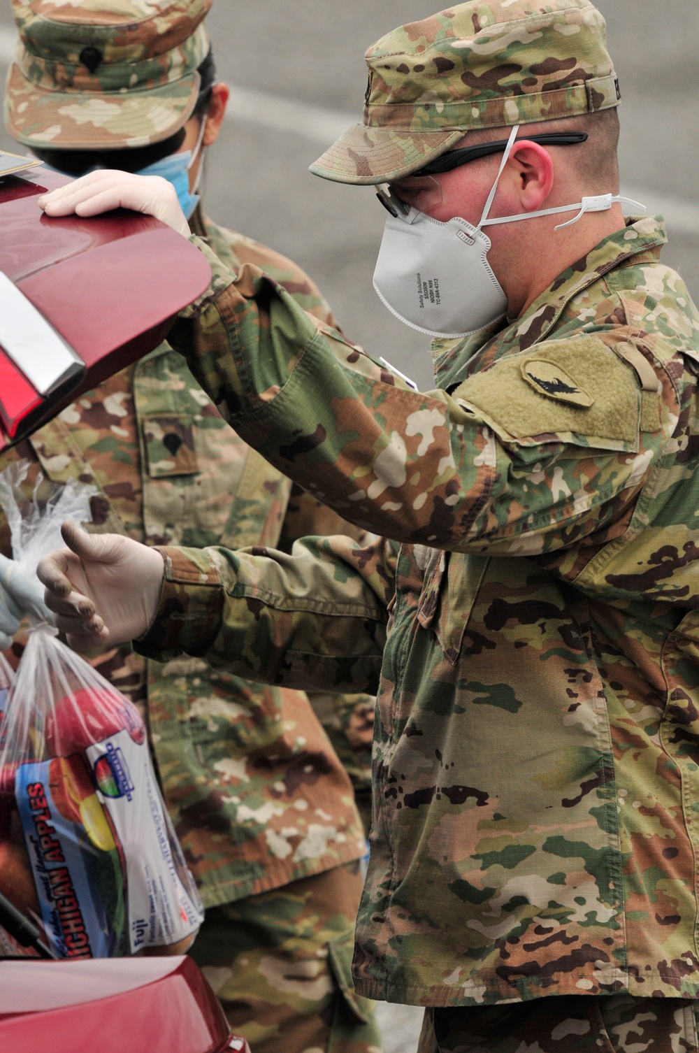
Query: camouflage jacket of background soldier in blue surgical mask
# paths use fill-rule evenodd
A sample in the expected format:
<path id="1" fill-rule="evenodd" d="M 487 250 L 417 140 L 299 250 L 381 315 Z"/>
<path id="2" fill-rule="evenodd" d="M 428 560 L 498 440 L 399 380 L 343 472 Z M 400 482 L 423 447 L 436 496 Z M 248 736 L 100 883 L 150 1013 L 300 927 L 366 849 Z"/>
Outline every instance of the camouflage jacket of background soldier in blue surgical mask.
<path id="1" fill-rule="evenodd" d="M 201 217 L 195 224 L 228 266 L 264 265 L 301 306 L 329 317 L 295 264 Z M 276 545 L 297 530 L 325 533 L 341 523 L 315 500 L 289 498 L 291 482 L 228 428 L 167 344 L 9 456 L 18 454 L 38 460 L 53 482 L 77 476 L 97 485 L 92 529 L 149 544 Z M 205 906 L 364 854 L 346 772 L 303 692 L 249 683 L 201 658 L 162 665 L 123 648 L 93 660 L 146 703 L 165 796 Z M 344 708 L 351 723 L 366 700 Z"/>

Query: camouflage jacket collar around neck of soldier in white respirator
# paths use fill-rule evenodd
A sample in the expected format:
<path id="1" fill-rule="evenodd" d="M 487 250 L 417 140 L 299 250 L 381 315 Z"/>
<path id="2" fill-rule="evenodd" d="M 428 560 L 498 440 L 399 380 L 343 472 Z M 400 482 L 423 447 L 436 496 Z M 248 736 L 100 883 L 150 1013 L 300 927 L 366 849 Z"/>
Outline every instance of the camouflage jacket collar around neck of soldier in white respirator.
<path id="1" fill-rule="evenodd" d="M 493 352 L 487 354 L 490 362 L 513 344 L 525 342 L 526 346 L 531 346 L 544 340 L 572 299 L 626 260 L 643 253 L 650 253 L 652 260 L 658 260 L 666 241 L 662 217 L 630 217 L 622 231 L 615 231 L 603 238 L 592 252 L 563 271 L 520 318 L 513 322 L 494 322 L 463 340 L 433 340 L 437 385 L 448 390 L 486 364 L 481 361 L 481 351 Z"/>

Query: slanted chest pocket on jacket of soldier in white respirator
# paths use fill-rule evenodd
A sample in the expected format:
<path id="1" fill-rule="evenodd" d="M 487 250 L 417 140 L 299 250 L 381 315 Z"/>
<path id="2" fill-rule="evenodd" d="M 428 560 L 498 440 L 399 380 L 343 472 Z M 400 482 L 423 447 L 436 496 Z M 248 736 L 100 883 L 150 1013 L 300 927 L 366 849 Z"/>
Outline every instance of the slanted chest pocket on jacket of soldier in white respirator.
<path id="1" fill-rule="evenodd" d="M 463 634 L 490 561 L 488 556 L 433 549 L 425 562 L 418 621 L 432 629 L 445 656 L 456 664 Z"/>

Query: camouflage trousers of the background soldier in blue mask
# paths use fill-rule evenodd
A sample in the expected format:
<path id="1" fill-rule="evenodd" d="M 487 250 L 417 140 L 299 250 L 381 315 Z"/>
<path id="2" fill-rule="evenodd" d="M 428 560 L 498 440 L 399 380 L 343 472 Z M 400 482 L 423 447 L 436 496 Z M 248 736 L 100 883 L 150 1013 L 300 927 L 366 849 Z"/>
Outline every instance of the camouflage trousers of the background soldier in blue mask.
<path id="1" fill-rule="evenodd" d="M 380 1053 L 352 988 L 358 863 L 207 911 L 192 949 L 253 1053 Z"/>

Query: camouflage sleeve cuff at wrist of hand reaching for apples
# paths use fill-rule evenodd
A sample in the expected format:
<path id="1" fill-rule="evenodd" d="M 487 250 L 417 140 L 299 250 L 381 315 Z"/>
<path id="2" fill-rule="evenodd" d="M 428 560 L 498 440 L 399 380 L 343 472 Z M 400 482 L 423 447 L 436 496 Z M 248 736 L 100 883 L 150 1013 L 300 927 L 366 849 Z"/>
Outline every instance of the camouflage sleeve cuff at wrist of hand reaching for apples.
<path id="1" fill-rule="evenodd" d="M 160 604 L 147 632 L 134 640 L 134 651 L 157 661 L 203 655 L 221 625 L 224 590 L 218 571 L 201 549 L 158 551 L 165 561 Z"/>

